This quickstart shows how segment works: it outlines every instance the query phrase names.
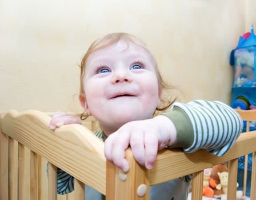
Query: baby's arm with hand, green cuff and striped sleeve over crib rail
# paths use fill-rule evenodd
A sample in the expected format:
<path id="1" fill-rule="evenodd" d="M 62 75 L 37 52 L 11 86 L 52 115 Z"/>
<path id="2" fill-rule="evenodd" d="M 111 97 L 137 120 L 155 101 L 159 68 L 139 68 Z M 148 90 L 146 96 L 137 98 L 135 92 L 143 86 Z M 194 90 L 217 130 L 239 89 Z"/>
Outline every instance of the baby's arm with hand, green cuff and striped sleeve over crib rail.
<path id="1" fill-rule="evenodd" d="M 129 169 L 125 150 L 151 169 L 157 151 L 165 146 L 183 147 L 185 152 L 206 149 L 222 156 L 242 131 L 242 119 L 222 102 L 174 103 L 172 111 L 153 119 L 129 122 L 105 141 L 105 155 L 123 171 Z"/>

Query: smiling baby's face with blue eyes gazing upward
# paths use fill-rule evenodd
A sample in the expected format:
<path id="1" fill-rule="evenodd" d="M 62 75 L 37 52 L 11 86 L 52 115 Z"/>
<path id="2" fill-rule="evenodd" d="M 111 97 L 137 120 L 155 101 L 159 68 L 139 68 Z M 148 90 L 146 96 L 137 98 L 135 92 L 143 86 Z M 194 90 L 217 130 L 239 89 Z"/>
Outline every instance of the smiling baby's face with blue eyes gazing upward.
<path id="1" fill-rule="evenodd" d="M 130 121 L 149 119 L 158 105 L 155 66 L 142 47 L 119 41 L 86 62 L 83 86 L 88 109 L 106 134 Z"/>

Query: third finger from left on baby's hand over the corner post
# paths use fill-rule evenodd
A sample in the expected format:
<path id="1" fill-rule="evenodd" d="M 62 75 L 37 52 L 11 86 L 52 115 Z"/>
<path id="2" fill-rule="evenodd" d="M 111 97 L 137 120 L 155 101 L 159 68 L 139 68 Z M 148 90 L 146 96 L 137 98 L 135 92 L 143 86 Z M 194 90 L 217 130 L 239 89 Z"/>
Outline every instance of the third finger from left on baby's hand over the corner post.
<path id="1" fill-rule="evenodd" d="M 131 134 L 130 145 L 135 160 L 140 165 L 145 166 L 144 133 L 140 131 L 133 132 Z"/>

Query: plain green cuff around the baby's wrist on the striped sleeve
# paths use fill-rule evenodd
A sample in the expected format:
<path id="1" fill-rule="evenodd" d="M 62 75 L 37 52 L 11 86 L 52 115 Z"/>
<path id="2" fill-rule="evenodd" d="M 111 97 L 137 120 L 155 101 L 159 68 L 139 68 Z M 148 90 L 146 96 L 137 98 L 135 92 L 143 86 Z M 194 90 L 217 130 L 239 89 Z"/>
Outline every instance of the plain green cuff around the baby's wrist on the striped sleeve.
<path id="1" fill-rule="evenodd" d="M 177 131 L 176 141 L 171 147 L 190 147 L 194 141 L 194 131 L 192 123 L 186 113 L 179 107 L 174 107 L 173 111 L 163 113 L 162 115 L 165 115 L 174 123 Z"/>

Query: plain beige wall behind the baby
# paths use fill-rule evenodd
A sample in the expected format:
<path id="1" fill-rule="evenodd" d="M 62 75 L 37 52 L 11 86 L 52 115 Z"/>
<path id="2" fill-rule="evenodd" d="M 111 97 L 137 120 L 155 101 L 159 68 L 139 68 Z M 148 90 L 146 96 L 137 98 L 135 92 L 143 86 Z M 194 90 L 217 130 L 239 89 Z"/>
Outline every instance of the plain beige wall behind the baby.
<path id="1" fill-rule="evenodd" d="M 79 107 L 78 63 L 117 31 L 147 43 L 180 99 L 230 103 L 229 54 L 256 25 L 253 0 L 14 1 L 0 3 L 0 111 Z"/>

